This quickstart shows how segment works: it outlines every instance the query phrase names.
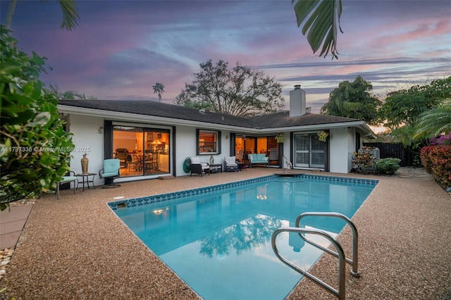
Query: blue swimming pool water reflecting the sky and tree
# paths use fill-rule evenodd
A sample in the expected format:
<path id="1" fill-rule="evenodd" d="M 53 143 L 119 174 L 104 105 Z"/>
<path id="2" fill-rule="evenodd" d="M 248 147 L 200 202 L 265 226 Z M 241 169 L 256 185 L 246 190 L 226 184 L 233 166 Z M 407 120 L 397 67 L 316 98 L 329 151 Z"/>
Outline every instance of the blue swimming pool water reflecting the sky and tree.
<path id="1" fill-rule="evenodd" d="M 299 175 L 261 177 L 185 192 L 111 202 L 149 249 L 204 299 L 283 299 L 302 275 L 273 254 L 271 235 L 305 211 L 352 215 L 376 180 Z M 338 235 L 345 222 L 309 217 L 302 227 Z M 328 242 L 309 236 L 323 246 Z M 296 234 L 278 236 L 280 253 L 308 270 L 322 252 Z M 334 282 L 330 282 L 334 284 Z"/>

